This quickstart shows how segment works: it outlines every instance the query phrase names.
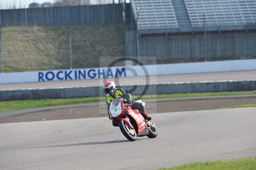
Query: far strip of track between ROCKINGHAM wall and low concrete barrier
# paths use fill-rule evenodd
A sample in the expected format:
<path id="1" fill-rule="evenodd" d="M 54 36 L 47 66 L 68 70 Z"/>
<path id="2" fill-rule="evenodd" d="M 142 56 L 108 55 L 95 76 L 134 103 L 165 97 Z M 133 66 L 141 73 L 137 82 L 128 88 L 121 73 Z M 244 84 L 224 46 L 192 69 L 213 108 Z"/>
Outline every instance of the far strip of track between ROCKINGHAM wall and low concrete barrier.
<path id="1" fill-rule="evenodd" d="M 163 76 L 150 76 L 150 84 L 162 82 L 197 82 L 197 81 L 220 81 L 220 80 L 253 80 L 256 79 L 256 70 L 221 72 L 221 73 L 201 73 L 201 74 L 176 74 Z M 108 79 L 111 81 L 112 79 Z M 120 78 L 120 85 L 145 84 L 145 77 Z M 116 83 L 117 84 L 117 83 Z M 33 83 L 13 83 L 0 84 L 0 90 L 8 89 L 28 89 L 28 88 L 58 88 L 58 87 L 95 87 L 102 86 L 103 79 L 74 80 L 74 81 L 52 81 Z"/>

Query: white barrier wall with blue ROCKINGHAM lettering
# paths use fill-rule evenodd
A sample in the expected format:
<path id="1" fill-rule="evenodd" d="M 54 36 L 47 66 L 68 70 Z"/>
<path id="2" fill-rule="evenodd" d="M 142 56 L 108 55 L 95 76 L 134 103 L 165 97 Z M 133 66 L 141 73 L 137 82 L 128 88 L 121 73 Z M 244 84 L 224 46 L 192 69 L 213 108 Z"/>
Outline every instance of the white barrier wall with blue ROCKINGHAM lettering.
<path id="1" fill-rule="evenodd" d="M 0 84 L 256 70 L 256 59 L 0 73 Z"/>

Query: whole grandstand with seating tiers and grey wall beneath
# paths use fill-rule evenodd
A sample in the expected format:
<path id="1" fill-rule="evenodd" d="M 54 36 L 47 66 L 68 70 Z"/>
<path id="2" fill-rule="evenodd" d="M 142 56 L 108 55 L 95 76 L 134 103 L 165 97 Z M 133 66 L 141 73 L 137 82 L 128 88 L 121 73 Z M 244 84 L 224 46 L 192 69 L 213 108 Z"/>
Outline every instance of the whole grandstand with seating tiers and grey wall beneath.
<path id="1" fill-rule="evenodd" d="M 131 0 L 131 9 L 140 57 L 256 57 L 256 0 Z"/>

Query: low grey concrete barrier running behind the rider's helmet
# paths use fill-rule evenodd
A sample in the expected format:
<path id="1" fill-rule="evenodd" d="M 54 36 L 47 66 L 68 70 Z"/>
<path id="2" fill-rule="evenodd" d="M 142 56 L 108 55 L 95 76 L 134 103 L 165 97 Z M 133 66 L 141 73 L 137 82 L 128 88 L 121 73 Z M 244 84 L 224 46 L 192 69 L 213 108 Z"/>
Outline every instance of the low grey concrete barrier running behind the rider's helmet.
<path id="1" fill-rule="evenodd" d="M 122 86 L 127 93 L 143 95 L 145 85 L 137 87 Z M 252 91 L 256 90 L 256 80 L 246 81 L 207 81 L 207 82 L 184 82 L 162 83 L 149 85 L 146 95 L 149 94 L 172 94 L 172 93 L 201 93 L 222 91 Z M 55 88 L 55 89 L 24 89 L 0 91 L 0 101 L 31 100 L 31 99 L 62 99 L 76 97 L 104 96 L 102 87 L 80 88 Z"/>

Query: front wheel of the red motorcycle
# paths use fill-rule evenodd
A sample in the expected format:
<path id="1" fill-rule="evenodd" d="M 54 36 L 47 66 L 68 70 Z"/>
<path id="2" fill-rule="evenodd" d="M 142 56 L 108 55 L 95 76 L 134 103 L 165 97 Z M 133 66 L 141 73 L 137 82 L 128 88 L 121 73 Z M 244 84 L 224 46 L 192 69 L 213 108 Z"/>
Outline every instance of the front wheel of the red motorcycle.
<path id="1" fill-rule="evenodd" d="M 121 132 L 124 134 L 124 136 L 129 140 L 129 141 L 135 141 L 137 139 L 137 133 L 135 129 L 128 128 L 128 125 L 125 123 L 124 120 L 118 121 L 119 128 Z"/>

